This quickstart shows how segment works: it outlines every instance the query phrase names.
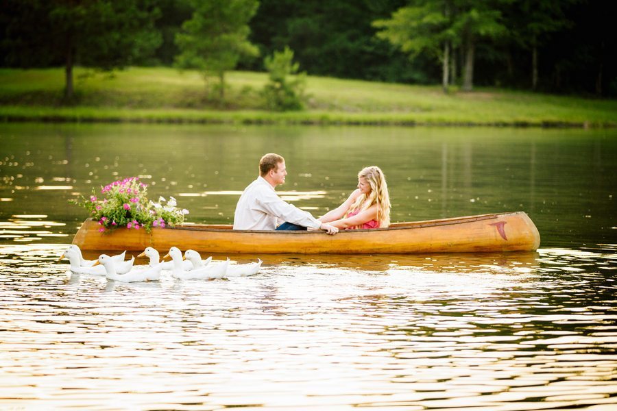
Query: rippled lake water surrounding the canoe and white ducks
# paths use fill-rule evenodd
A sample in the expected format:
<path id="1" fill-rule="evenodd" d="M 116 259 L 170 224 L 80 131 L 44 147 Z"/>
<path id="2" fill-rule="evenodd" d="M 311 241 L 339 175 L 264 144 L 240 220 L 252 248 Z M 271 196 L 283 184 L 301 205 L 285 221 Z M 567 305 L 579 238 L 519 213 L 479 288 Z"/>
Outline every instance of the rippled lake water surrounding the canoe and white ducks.
<path id="1" fill-rule="evenodd" d="M 58 261 L 87 216 L 68 199 L 138 176 L 189 221 L 231 223 L 270 151 L 315 215 L 376 164 L 392 221 L 522 210 L 542 244 L 256 250 L 230 257 L 258 275 L 208 282 Z M 614 129 L 0 125 L 0 408 L 615 410 L 616 176 Z"/>

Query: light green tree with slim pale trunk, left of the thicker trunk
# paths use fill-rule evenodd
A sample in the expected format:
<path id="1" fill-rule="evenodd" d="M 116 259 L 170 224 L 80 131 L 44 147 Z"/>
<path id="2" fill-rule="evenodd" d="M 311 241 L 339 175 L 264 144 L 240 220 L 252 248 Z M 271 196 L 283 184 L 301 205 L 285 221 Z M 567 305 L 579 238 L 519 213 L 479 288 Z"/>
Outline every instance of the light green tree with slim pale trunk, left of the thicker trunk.
<path id="1" fill-rule="evenodd" d="M 373 25 L 381 29 L 377 33 L 378 38 L 397 45 L 404 53 L 409 53 L 411 58 L 428 53 L 440 60 L 441 85 L 444 92 L 448 92 L 448 60 L 454 39 L 450 0 L 420 1 L 417 4 L 400 8 L 390 19 L 376 20 Z"/>

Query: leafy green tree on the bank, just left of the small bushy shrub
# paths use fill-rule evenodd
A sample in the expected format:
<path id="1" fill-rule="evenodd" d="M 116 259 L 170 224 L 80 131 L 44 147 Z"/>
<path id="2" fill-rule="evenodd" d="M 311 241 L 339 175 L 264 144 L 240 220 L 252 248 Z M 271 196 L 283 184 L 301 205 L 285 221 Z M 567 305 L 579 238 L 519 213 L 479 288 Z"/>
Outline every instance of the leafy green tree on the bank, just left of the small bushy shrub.
<path id="1" fill-rule="evenodd" d="M 258 49 L 247 40 L 248 22 L 258 8 L 257 0 L 193 0 L 193 16 L 176 34 L 180 55 L 176 65 L 181 69 L 202 71 L 219 78 L 219 98 L 224 97 L 225 72 L 233 70 L 242 57 L 258 55 Z"/>

